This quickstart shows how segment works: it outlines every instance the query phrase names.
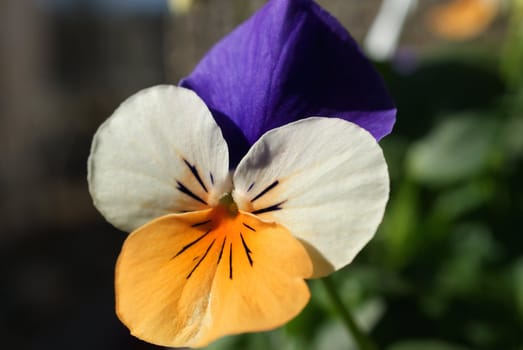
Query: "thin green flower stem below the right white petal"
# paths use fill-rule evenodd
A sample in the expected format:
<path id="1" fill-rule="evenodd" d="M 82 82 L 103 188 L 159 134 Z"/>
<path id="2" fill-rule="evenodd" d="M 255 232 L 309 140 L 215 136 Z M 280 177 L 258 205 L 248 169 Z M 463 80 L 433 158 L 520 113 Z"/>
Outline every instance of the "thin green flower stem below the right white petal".
<path id="1" fill-rule="evenodd" d="M 368 335 L 360 329 L 349 309 L 343 304 L 332 279 L 330 277 L 324 277 L 321 281 L 359 350 L 377 350 L 376 345 L 374 345 Z"/>

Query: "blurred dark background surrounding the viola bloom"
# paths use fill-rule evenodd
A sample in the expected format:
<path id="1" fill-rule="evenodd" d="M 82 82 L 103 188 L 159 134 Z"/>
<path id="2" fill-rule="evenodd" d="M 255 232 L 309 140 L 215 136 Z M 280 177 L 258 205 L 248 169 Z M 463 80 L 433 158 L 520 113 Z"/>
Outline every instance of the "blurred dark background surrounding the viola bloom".
<path id="1" fill-rule="evenodd" d="M 365 42 L 399 109 L 382 141 L 384 223 L 334 275 L 380 348 L 523 350 L 523 5 L 481 1 L 417 2 L 387 55 L 367 36 L 381 1 L 319 1 Z M 114 313 L 125 233 L 91 204 L 91 138 L 126 97 L 176 84 L 263 3 L 0 2 L 0 348 L 158 348 Z M 285 327 L 209 348 L 353 349 L 311 289 Z"/>

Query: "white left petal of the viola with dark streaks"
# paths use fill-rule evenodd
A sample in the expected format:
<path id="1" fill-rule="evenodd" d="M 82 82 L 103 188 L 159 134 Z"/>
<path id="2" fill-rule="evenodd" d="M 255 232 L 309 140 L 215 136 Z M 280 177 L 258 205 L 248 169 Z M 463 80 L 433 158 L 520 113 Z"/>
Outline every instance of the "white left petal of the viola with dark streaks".
<path id="1" fill-rule="evenodd" d="M 132 231 L 216 202 L 230 189 L 228 162 L 204 102 L 188 89 L 155 86 L 128 98 L 96 132 L 89 190 L 109 222 Z"/>

